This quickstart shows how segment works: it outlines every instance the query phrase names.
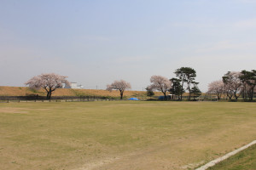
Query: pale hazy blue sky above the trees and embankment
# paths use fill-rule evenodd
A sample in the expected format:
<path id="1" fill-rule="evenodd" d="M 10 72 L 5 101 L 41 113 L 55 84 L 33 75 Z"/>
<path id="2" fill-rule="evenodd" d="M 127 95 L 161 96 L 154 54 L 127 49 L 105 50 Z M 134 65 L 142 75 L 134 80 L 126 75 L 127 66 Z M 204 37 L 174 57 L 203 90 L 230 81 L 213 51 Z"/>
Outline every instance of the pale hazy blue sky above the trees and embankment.
<path id="1" fill-rule="evenodd" d="M 84 88 L 188 66 L 202 91 L 256 69 L 256 0 L 0 0 L 0 86 L 55 72 Z"/>

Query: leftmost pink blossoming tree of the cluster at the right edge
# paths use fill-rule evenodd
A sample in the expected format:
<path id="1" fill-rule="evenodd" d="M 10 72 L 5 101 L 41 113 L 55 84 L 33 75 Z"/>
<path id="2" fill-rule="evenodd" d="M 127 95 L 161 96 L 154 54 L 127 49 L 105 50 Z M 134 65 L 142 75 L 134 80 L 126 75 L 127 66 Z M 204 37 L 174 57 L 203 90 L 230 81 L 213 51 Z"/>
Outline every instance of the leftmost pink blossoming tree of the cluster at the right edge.
<path id="1" fill-rule="evenodd" d="M 224 82 L 218 80 L 209 83 L 207 94 L 216 94 L 218 99 L 221 99 L 221 95 L 224 94 Z"/>

